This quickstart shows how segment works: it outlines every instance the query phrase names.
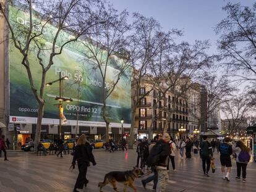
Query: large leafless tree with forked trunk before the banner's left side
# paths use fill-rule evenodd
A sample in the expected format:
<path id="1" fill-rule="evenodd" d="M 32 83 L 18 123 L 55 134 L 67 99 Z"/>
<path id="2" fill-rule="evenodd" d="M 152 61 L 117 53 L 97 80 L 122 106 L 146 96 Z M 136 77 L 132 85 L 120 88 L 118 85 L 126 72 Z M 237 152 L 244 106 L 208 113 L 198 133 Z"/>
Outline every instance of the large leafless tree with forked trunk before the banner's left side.
<path id="1" fill-rule="evenodd" d="M 102 5 L 94 0 L 23 0 L 21 2 L 23 4 L 10 0 L 6 1 L 4 5 L 1 1 L 0 12 L 9 31 L 6 41 L 10 41 L 22 55 L 20 65 L 23 65 L 27 71 L 33 96 L 38 103 L 35 134 L 35 146 L 37 146 L 40 141 L 41 123 L 45 109 L 46 74 L 54 64 L 54 57 L 60 55 L 67 44 L 77 41 L 81 35 L 88 33 L 90 28 L 101 22 L 99 16 Z M 16 10 L 10 17 L 9 6 Z M 22 23 L 16 20 L 15 15 L 17 16 L 20 12 L 28 14 L 26 18 L 28 22 Z M 55 28 L 48 31 L 46 28 L 49 25 L 53 25 Z M 50 36 L 47 40 L 49 44 L 45 41 L 46 31 Z M 69 33 L 69 36 L 65 36 L 63 32 Z M 29 54 L 35 54 L 37 57 L 36 63 L 33 65 L 38 65 L 41 77 L 33 75 Z M 36 86 L 35 80 L 38 78 L 40 78 L 40 85 Z"/>

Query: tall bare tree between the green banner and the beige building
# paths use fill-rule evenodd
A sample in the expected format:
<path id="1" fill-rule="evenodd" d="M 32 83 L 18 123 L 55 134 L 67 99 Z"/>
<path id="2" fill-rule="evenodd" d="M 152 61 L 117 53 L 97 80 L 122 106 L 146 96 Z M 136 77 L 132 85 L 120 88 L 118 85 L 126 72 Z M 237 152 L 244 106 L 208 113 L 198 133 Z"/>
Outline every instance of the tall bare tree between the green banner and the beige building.
<path id="1" fill-rule="evenodd" d="M 132 25 L 134 33 L 129 36 L 128 50 L 130 53 L 130 64 L 132 65 L 132 125 L 130 128 L 129 148 L 134 143 L 134 128 L 136 110 L 142 104 L 142 99 L 151 94 L 155 89 L 156 78 L 159 75 L 153 73 L 156 57 L 161 52 L 163 44 L 171 39 L 172 36 L 181 34 L 178 30 L 171 30 L 167 33 L 161 31 L 160 23 L 153 18 L 144 17 L 141 14 L 134 14 L 134 23 Z M 140 91 L 145 88 L 145 92 Z M 150 108 L 151 103 L 145 106 Z M 151 128 L 151 126 L 150 126 Z M 149 131 L 150 133 L 150 131 Z M 149 136 L 151 138 L 151 136 Z"/>

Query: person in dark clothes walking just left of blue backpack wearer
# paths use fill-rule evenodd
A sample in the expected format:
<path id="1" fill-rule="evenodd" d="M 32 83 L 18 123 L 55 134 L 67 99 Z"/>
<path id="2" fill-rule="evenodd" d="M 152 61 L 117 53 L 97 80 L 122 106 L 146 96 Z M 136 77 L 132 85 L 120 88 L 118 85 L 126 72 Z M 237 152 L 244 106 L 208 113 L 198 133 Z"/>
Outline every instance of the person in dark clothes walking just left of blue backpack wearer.
<path id="1" fill-rule="evenodd" d="M 209 170 L 211 165 L 211 157 L 213 157 L 213 151 L 206 135 L 203 135 L 203 141 L 202 143 L 200 143 L 200 149 L 200 156 L 202 157 L 203 165 L 203 174 L 209 177 Z M 207 164 L 207 169 L 205 169 L 205 163 Z"/>

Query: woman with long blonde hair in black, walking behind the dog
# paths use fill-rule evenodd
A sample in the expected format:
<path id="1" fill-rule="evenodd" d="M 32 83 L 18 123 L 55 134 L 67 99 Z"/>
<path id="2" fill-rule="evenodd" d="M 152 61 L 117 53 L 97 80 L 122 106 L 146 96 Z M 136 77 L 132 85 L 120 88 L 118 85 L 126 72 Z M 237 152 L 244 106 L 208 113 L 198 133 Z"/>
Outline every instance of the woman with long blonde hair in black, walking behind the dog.
<path id="1" fill-rule="evenodd" d="M 90 162 L 92 162 L 93 166 L 96 165 L 92 154 L 92 148 L 84 134 L 79 137 L 77 146 L 75 146 L 72 169 L 75 169 L 76 161 L 79 169 L 79 175 L 77 177 L 77 182 L 75 182 L 74 192 L 78 192 L 77 189 L 83 189 L 83 186 L 87 187 L 87 184 L 89 183 L 89 180 L 86 178 L 87 167 L 90 166 Z"/>

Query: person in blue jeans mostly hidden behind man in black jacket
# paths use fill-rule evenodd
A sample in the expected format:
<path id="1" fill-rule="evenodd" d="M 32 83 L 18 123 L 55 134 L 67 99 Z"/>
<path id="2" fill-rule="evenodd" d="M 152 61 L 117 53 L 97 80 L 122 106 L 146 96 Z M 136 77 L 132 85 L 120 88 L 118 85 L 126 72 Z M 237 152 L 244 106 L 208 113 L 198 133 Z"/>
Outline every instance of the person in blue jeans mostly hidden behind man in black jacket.
<path id="1" fill-rule="evenodd" d="M 161 139 L 162 139 L 161 135 L 156 135 L 156 136 L 154 137 L 154 140 L 151 141 L 151 143 L 150 143 L 149 146 L 148 146 L 148 152 L 149 152 L 149 154 L 150 154 L 151 149 L 153 148 L 153 146 L 155 146 L 156 142 L 157 142 L 157 141 L 160 141 Z M 144 180 L 142 180 L 142 185 L 143 185 L 143 187 L 146 189 L 147 183 L 150 183 L 151 181 L 153 181 L 153 190 L 156 190 L 157 179 L 158 179 L 156 167 L 155 167 L 155 166 L 152 166 L 152 167 L 151 167 L 151 170 L 152 170 L 152 172 L 153 172 L 153 175 L 150 176 L 150 177 L 148 177 L 148 178 L 145 178 Z"/>

